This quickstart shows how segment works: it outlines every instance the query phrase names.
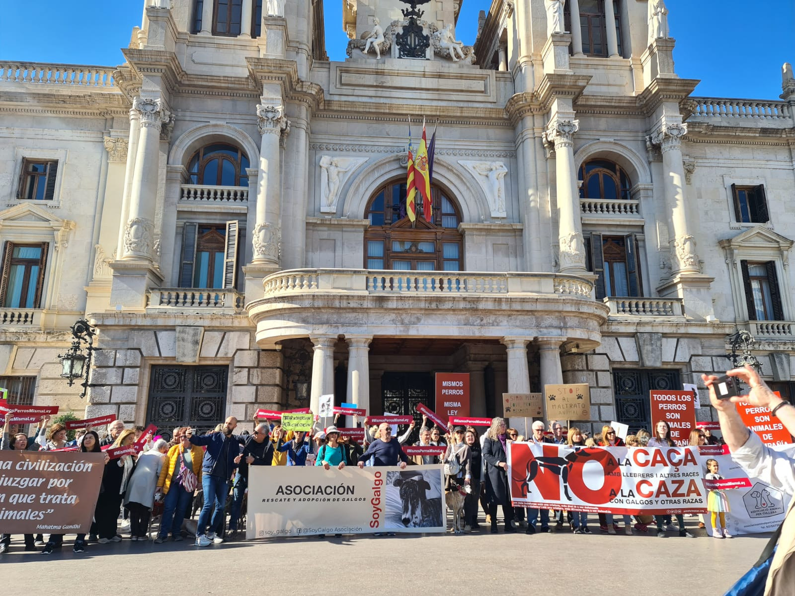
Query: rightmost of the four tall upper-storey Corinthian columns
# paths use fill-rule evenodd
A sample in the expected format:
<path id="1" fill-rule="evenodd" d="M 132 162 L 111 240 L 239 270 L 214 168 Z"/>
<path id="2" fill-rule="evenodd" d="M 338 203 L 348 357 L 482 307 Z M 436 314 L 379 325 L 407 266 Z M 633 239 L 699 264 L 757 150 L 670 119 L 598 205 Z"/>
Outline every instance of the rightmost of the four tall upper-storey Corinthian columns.
<path id="1" fill-rule="evenodd" d="M 682 137 L 688 125 L 681 122 L 664 123 L 647 137 L 650 145 L 658 146 L 662 153 L 665 211 L 668 214 L 672 273 L 700 273 L 696 254 L 696 238 L 690 229 L 687 205 L 684 203 L 684 164 L 682 163 Z"/>

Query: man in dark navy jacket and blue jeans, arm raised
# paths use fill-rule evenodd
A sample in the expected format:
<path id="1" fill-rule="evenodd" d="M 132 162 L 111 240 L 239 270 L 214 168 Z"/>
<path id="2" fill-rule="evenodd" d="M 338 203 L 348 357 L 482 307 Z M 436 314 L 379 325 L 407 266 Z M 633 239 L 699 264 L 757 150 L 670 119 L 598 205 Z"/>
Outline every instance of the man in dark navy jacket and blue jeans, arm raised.
<path id="1" fill-rule="evenodd" d="M 245 437 L 232 434 L 237 425 L 238 419 L 229 416 L 224 421 L 221 432 L 208 432 L 207 435 L 201 436 L 193 435 L 192 428 L 188 428 L 185 432 L 192 445 L 207 447 L 201 465 L 204 506 L 196 524 L 196 546 L 206 547 L 223 542 L 223 538 L 216 536 L 215 533 L 219 531 L 223 522 L 224 508 L 229 494 L 229 479 L 237 467 L 235 458 L 240 455 L 240 445 L 245 443 Z M 205 534 L 213 505 L 215 513 L 212 514 L 210 521 L 210 531 Z"/>

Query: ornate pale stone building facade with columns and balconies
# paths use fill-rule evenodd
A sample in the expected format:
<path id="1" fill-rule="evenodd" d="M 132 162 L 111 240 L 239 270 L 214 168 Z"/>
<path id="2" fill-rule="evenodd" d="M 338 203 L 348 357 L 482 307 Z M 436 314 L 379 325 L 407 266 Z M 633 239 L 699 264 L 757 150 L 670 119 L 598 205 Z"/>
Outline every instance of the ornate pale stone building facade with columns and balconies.
<path id="1" fill-rule="evenodd" d="M 207 428 L 468 372 L 475 416 L 588 382 L 586 426 L 648 427 L 737 329 L 795 393 L 788 65 L 780 100 L 693 97 L 661 0 L 494 0 L 472 47 L 459 0 L 344 0 L 343 62 L 319 0 L 145 5 L 117 68 L 0 63 L 13 399 Z M 414 225 L 406 114 L 438 123 Z"/>

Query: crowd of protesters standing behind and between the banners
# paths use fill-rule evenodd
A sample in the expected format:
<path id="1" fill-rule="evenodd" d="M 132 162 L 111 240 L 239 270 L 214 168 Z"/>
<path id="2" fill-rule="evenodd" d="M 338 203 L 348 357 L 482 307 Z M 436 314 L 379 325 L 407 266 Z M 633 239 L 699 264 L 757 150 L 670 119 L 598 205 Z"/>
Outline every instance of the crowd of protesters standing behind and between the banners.
<path id="1" fill-rule="evenodd" d="M 41 419 L 35 433 L 28 437 L 7 433 L 10 413 L 3 429 L 2 449 L 52 451 L 66 447 L 77 447 L 83 452 L 102 452 L 103 445 L 113 447 L 130 446 L 142 434 L 143 428 L 125 428 L 117 420 L 107 427 L 100 437 L 93 428 L 77 432 L 75 440 L 68 439 L 63 424 L 47 425 L 48 416 Z M 355 416 L 355 424 L 358 418 Z M 366 420 L 365 420 L 366 422 Z M 336 424 L 336 419 L 335 419 Z M 464 501 L 464 532 L 480 529 L 479 505 L 483 509 L 486 524 L 492 533 L 497 533 L 498 516 L 502 515 L 504 532 L 515 533 L 523 528 L 526 534 L 536 532 L 570 531 L 575 534 L 603 532 L 616 534 L 622 528 L 618 516 L 610 513 L 598 514 L 598 529 L 589 526 L 588 513 L 582 511 L 554 511 L 549 509 L 523 509 L 511 505 L 507 470 L 507 446 L 518 441 L 530 443 L 556 443 L 572 447 L 673 447 L 671 429 L 659 422 L 653 434 L 635 432 L 620 439 L 614 428 L 606 425 L 602 432 L 591 437 L 583 429 L 553 421 L 549 430 L 540 420 L 532 424 L 532 434 L 525 438 L 515 428 L 508 428 L 504 418 L 494 418 L 491 427 L 482 436 L 474 427 L 456 426 L 440 429 L 429 426 L 423 417 L 418 431 L 416 446 L 445 447 L 444 454 L 417 455 L 409 458 L 402 446 L 413 435 L 415 424 L 399 436 L 393 435 L 390 424 L 366 428 L 365 439 L 360 444 L 349 435 L 344 435 L 332 425 L 328 428 L 313 428 L 312 432 L 286 432 L 281 424 L 267 420 L 254 420 L 252 433 L 235 434 L 238 420 L 229 417 L 213 431 L 198 434 L 194 429 L 173 429 L 170 441 L 160 437 L 145 437 L 145 449 L 136 455 L 122 455 L 110 459 L 105 455 L 105 468 L 99 498 L 88 537 L 76 536 L 73 550 L 83 552 L 87 542 L 99 544 L 122 540 L 118 525 L 122 507 L 130 540 L 150 540 L 150 521 L 153 510 L 160 515 L 154 542 L 162 544 L 169 540 L 184 540 L 184 536 L 195 536 L 196 546 L 207 547 L 234 540 L 241 528 L 241 517 L 246 506 L 246 490 L 250 466 L 400 466 L 409 464 L 440 464 L 456 459 L 456 472 L 445 478 L 445 490 L 460 490 L 466 494 Z M 690 444 L 718 443 L 719 439 L 709 431 L 693 430 Z M 196 528 L 192 528 L 192 517 L 199 512 Z M 227 527 L 227 514 L 229 516 Z M 525 520 L 526 516 L 526 522 Z M 629 515 L 622 516 L 623 531 L 627 535 L 646 532 L 656 523 L 657 536 L 666 532 L 678 532 L 679 536 L 692 537 L 685 528 L 684 518 L 676 515 L 677 525 L 671 516 L 638 516 L 633 522 Z M 551 522 L 554 521 L 554 527 Z M 595 521 L 595 520 L 594 520 Z M 725 525 L 725 524 L 724 524 Z M 568 528 L 567 528 L 568 526 Z M 704 527 L 704 524 L 700 524 Z M 124 528 L 125 526 L 122 526 Z M 725 532 L 725 530 L 724 530 Z M 723 536 L 731 537 L 727 532 Z M 6 552 L 10 536 L 0 538 L 0 553 Z M 44 536 L 25 535 L 25 550 L 36 550 L 49 554 L 62 548 L 64 536 L 51 535 L 47 542 Z"/>

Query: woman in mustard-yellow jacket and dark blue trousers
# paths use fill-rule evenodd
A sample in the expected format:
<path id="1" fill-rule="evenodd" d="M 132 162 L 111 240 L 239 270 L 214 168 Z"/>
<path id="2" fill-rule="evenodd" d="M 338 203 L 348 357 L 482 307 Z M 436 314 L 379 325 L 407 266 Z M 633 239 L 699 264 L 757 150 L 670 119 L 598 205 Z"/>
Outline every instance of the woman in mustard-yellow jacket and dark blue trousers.
<path id="1" fill-rule="evenodd" d="M 182 540 L 180 529 L 185 509 L 196 486 L 201 486 L 204 450 L 198 445 L 191 445 L 185 436 L 185 428 L 174 431 L 174 440 L 176 445 L 169 449 L 160 478 L 157 479 L 157 490 L 165 494 L 160 533 L 155 539 L 157 544 L 169 539 L 169 528 L 175 542 Z"/>

